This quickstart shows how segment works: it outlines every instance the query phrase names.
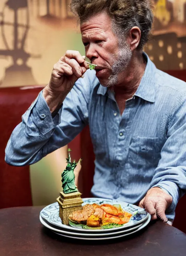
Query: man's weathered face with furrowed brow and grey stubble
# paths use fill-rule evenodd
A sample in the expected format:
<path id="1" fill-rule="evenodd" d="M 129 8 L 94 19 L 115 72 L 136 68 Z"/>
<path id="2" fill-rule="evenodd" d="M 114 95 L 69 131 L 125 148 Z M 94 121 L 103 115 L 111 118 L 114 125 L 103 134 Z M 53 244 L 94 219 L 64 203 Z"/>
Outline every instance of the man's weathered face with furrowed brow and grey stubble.
<path id="1" fill-rule="evenodd" d="M 86 56 L 96 67 L 96 76 L 106 87 L 122 83 L 122 77 L 130 63 L 132 51 L 126 39 L 119 46 L 118 37 L 112 31 L 112 21 L 106 12 L 90 17 L 81 24 L 82 42 Z"/>

